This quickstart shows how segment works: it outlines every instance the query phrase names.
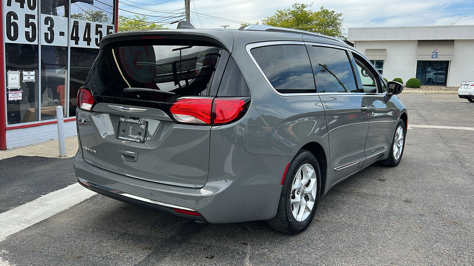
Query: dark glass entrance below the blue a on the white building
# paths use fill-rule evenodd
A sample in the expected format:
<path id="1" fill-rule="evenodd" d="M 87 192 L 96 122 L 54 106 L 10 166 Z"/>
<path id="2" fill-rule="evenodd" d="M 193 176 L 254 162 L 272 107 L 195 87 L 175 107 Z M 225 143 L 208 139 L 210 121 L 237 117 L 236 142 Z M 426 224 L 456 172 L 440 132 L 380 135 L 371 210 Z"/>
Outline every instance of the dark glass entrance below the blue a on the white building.
<path id="1" fill-rule="evenodd" d="M 416 78 L 421 85 L 446 86 L 449 61 L 418 61 Z"/>

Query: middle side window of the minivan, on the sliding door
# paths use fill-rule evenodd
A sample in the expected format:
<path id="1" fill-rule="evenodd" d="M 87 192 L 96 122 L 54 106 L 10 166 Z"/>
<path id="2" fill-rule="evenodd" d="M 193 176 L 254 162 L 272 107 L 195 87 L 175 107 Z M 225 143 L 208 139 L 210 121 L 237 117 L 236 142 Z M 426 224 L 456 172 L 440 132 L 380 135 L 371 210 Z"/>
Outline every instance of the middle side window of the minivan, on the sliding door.
<path id="1" fill-rule="evenodd" d="M 358 92 L 354 71 L 345 50 L 313 46 L 319 70 L 315 71 L 318 92 Z"/>

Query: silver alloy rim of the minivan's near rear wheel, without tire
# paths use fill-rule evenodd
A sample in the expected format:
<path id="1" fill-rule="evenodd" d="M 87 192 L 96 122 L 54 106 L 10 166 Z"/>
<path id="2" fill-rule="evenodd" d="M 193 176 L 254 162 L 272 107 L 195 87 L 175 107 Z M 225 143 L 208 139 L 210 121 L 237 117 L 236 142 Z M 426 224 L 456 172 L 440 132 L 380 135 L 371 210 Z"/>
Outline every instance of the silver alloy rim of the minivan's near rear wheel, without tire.
<path id="1" fill-rule="evenodd" d="M 293 218 L 302 222 L 310 216 L 318 190 L 316 171 L 309 163 L 296 172 L 292 183 L 291 208 Z"/>

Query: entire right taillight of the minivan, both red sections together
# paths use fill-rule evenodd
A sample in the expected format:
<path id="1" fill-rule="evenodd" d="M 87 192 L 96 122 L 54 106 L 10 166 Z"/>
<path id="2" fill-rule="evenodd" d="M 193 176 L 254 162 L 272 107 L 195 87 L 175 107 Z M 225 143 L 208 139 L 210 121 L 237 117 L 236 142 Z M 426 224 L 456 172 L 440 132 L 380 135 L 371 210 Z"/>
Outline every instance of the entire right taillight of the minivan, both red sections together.
<path id="1" fill-rule="evenodd" d="M 216 98 L 214 101 L 211 98 L 182 98 L 173 103 L 170 112 L 182 123 L 224 124 L 236 119 L 245 103 L 241 98 Z"/>

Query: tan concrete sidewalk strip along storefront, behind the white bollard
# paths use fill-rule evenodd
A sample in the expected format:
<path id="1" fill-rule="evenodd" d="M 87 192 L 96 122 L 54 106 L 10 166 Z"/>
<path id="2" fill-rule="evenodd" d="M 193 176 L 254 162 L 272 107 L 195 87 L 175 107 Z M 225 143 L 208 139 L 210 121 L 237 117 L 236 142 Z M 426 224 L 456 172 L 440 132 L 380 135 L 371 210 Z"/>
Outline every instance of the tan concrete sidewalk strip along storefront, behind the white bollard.
<path id="1" fill-rule="evenodd" d="M 77 136 L 66 138 L 66 157 L 64 158 L 74 157 L 74 155 L 76 155 L 78 147 L 79 144 L 77 142 Z M 15 157 L 18 155 L 60 158 L 59 143 L 58 140 L 51 140 L 25 147 L 0 151 L 0 160 Z"/>

